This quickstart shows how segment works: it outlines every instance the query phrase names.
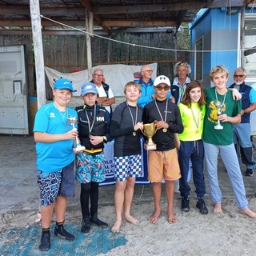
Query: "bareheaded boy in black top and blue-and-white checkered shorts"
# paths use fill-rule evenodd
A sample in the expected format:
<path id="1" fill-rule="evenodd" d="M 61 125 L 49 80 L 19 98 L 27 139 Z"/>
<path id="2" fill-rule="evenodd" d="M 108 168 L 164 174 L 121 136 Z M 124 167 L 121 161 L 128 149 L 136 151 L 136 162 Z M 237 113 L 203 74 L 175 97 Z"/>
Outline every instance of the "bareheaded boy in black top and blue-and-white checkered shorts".
<path id="1" fill-rule="evenodd" d="M 142 125 L 142 106 L 138 106 L 141 87 L 135 82 L 128 82 L 124 87 L 126 102 L 119 104 L 114 110 L 110 134 L 114 141 L 114 166 L 116 189 L 114 205 L 116 220 L 112 232 L 120 231 L 123 217 L 127 222 L 138 225 L 138 219 L 130 215 L 130 206 L 134 196 L 135 179 L 142 172 L 142 149 L 140 130 Z"/>

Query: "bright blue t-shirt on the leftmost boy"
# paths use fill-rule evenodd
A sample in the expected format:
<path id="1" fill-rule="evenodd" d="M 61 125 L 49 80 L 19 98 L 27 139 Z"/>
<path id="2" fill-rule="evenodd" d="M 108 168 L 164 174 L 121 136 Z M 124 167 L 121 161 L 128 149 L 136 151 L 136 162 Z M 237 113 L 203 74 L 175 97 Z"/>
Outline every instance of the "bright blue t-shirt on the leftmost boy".
<path id="1" fill-rule="evenodd" d="M 68 130 L 72 130 L 73 127 L 68 124 L 66 118 L 67 116 L 77 117 L 77 112 L 67 107 L 67 110 L 61 113 L 53 102 L 42 106 L 35 115 L 34 132 L 65 134 Z M 37 142 L 35 149 L 38 170 L 52 173 L 68 166 L 70 162 L 74 161 L 73 143 L 72 139 L 58 142 Z"/>

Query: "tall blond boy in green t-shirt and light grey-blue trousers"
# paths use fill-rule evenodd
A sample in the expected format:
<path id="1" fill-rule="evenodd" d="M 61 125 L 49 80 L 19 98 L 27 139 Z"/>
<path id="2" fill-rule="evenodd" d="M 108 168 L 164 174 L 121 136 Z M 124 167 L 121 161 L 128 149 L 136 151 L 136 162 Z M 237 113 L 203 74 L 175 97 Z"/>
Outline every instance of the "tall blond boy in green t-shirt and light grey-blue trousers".
<path id="1" fill-rule="evenodd" d="M 214 83 L 214 87 L 205 90 L 206 116 L 202 140 L 210 196 L 214 202 L 214 213 L 221 214 L 222 192 L 218 186 L 218 154 L 220 154 L 229 174 L 240 212 L 250 218 L 256 218 L 256 214 L 248 208 L 246 190 L 233 143 L 232 124 L 241 122 L 241 101 L 234 101 L 232 92 L 226 88 L 228 76 L 229 72 L 225 66 L 215 66 L 210 70 L 210 80 Z M 220 115 L 216 104 L 222 105 Z M 218 120 L 221 122 L 221 130 L 215 128 Z"/>

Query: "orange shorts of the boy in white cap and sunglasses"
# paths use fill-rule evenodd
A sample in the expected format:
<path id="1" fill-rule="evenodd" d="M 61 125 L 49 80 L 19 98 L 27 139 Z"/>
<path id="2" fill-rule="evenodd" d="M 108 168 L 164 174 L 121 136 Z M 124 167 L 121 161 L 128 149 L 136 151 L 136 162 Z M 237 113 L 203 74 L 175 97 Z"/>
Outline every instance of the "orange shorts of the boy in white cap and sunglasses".
<path id="1" fill-rule="evenodd" d="M 150 182 L 174 181 L 181 178 L 177 150 L 148 151 L 148 180 Z"/>

